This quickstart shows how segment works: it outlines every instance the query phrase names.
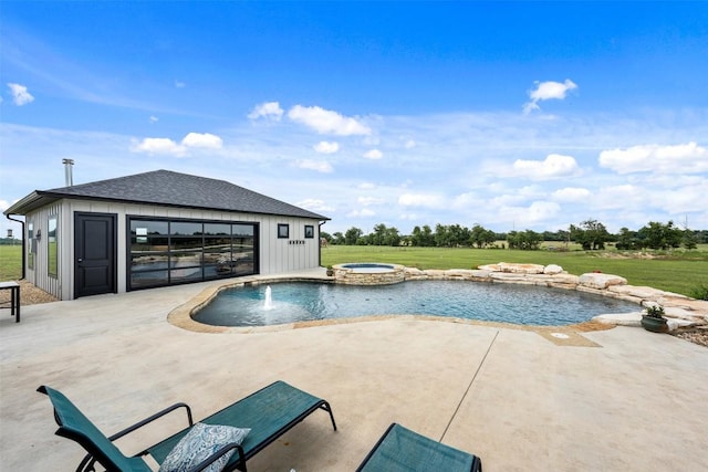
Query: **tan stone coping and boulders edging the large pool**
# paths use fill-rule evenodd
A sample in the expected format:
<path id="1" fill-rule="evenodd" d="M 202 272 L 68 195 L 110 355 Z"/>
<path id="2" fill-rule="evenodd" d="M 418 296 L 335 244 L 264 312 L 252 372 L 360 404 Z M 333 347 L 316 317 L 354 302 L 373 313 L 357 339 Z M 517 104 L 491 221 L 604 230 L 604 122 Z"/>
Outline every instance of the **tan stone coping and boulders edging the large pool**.
<path id="1" fill-rule="evenodd" d="M 632 303 L 636 303 L 642 308 L 647 306 L 660 305 L 665 308 L 665 316 L 668 319 L 669 331 L 676 331 L 684 327 L 693 327 L 699 325 L 708 325 L 708 302 L 690 298 L 677 293 L 666 292 L 648 286 L 633 286 L 627 284 L 627 280 L 613 274 L 605 273 L 586 273 L 582 275 L 572 275 L 564 271 L 561 266 L 555 264 L 539 265 L 539 264 L 518 264 L 518 263 L 504 263 L 480 265 L 478 269 L 429 269 L 420 270 L 417 268 L 407 268 L 398 264 L 387 264 L 395 266 L 395 277 L 387 279 L 396 280 L 396 282 L 385 283 L 398 283 L 405 281 L 420 281 L 420 280 L 441 280 L 441 281 L 468 281 L 468 282 L 485 282 L 485 283 L 514 283 L 525 285 L 537 285 L 545 287 L 555 287 L 564 290 L 576 290 L 580 292 L 592 293 L 601 296 L 608 296 L 612 298 L 618 298 Z M 339 323 L 353 323 L 356 321 L 371 321 L 372 317 L 346 318 L 346 319 L 333 319 L 333 321 L 319 321 L 319 322 L 298 322 L 284 325 L 274 326 L 258 326 L 258 327 L 235 327 L 235 326 L 212 326 L 206 325 L 192 319 L 191 314 L 207 305 L 212 297 L 215 297 L 220 291 L 256 284 L 278 283 L 278 282 L 321 282 L 321 283 L 355 283 L 358 279 L 364 279 L 366 283 L 358 283 L 360 285 L 374 284 L 369 277 L 352 277 L 348 271 L 342 272 L 342 269 L 334 266 L 335 273 L 333 276 L 327 276 L 324 269 L 321 275 L 312 274 L 308 276 L 292 276 L 288 274 L 283 275 L 251 275 L 239 279 L 233 282 L 222 282 L 220 285 L 214 285 L 205 289 L 201 293 L 195 296 L 189 302 L 173 310 L 167 319 L 170 324 L 181 327 L 184 329 L 198 332 L 198 333 L 261 333 L 282 329 L 294 329 L 309 326 L 321 326 L 326 324 Z M 384 274 L 389 274 L 388 272 Z M 339 277 L 337 277 L 339 275 Z M 357 275 L 377 275 L 381 277 L 382 273 L 360 273 Z M 400 280 L 399 280 L 400 279 Z M 343 282 L 346 280 L 346 282 Z M 226 282 L 226 283 L 223 283 Z M 399 316 L 399 315 L 396 315 Z M 382 317 L 376 317 L 377 319 Z M 434 316 L 427 316 L 429 319 L 445 319 L 455 321 L 460 323 L 456 318 L 437 318 Z M 589 325 L 595 325 L 597 329 L 604 329 L 617 325 L 622 326 L 641 326 L 642 310 L 632 313 L 623 314 L 603 314 L 597 315 L 587 322 Z M 472 321 L 475 322 L 475 321 Z M 485 324 L 483 322 L 480 322 Z M 517 325 L 510 325 L 517 326 Z M 603 327 L 604 326 L 604 327 Z M 548 329 L 548 326 L 524 326 L 532 331 Z"/>

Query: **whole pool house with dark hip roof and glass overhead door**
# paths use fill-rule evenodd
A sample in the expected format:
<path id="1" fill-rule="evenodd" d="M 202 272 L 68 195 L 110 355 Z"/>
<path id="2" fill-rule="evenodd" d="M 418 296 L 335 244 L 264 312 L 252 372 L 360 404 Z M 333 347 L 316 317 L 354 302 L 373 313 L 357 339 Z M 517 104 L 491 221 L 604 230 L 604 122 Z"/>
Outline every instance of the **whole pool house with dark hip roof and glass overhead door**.
<path id="1" fill-rule="evenodd" d="M 60 300 L 320 266 L 327 217 L 225 180 L 155 170 L 35 190 L 23 274 Z"/>

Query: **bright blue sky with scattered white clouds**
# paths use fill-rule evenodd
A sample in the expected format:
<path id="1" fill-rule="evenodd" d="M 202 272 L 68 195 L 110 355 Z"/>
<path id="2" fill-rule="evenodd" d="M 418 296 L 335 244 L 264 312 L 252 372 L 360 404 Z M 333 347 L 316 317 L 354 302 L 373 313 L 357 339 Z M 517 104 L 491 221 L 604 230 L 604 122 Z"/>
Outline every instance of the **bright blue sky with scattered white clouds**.
<path id="1" fill-rule="evenodd" d="M 332 219 L 708 229 L 708 2 L 2 2 L 0 210 L 169 169 Z M 19 225 L 0 219 L 0 234 Z"/>

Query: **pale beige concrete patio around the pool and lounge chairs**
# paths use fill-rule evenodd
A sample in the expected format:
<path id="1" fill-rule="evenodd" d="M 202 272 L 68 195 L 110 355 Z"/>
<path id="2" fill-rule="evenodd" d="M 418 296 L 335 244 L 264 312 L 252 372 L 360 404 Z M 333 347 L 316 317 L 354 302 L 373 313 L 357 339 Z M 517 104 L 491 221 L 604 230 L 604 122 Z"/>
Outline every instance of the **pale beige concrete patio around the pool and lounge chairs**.
<path id="1" fill-rule="evenodd" d="M 414 317 L 195 333 L 167 314 L 214 283 L 0 312 L 0 469 L 73 470 L 40 385 L 104 432 L 171 405 L 196 419 L 282 379 L 332 405 L 249 462 L 352 471 L 393 422 L 472 452 L 486 472 L 708 470 L 708 349 L 636 327 L 564 346 L 534 331 Z M 179 417 L 179 426 L 185 421 Z M 136 452 L 166 421 L 119 442 Z"/>

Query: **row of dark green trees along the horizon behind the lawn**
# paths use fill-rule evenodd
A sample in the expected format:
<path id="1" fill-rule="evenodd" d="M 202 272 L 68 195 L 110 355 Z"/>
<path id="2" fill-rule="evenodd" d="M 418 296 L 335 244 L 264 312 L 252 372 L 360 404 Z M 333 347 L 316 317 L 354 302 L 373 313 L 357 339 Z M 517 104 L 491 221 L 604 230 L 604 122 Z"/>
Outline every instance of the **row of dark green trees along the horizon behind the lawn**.
<path id="1" fill-rule="evenodd" d="M 708 230 L 680 229 L 673 221 L 660 223 L 649 221 L 638 231 L 622 228 L 612 234 L 597 220 L 585 220 L 571 224 L 568 231 L 532 230 L 494 232 L 475 224 L 466 228 L 460 224 L 436 224 L 435 230 L 428 224 L 415 227 L 410 234 L 400 234 L 397 228 L 384 223 L 374 225 L 371 233 L 365 234 L 360 228 L 352 227 L 344 233 L 337 231 L 332 234 L 322 231 L 329 244 L 346 245 L 408 245 L 419 248 L 491 248 L 538 250 L 544 241 L 559 243 L 574 242 L 583 250 L 603 250 L 606 244 L 614 244 L 620 250 L 644 249 L 696 249 L 698 244 L 708 243 Z"/>

